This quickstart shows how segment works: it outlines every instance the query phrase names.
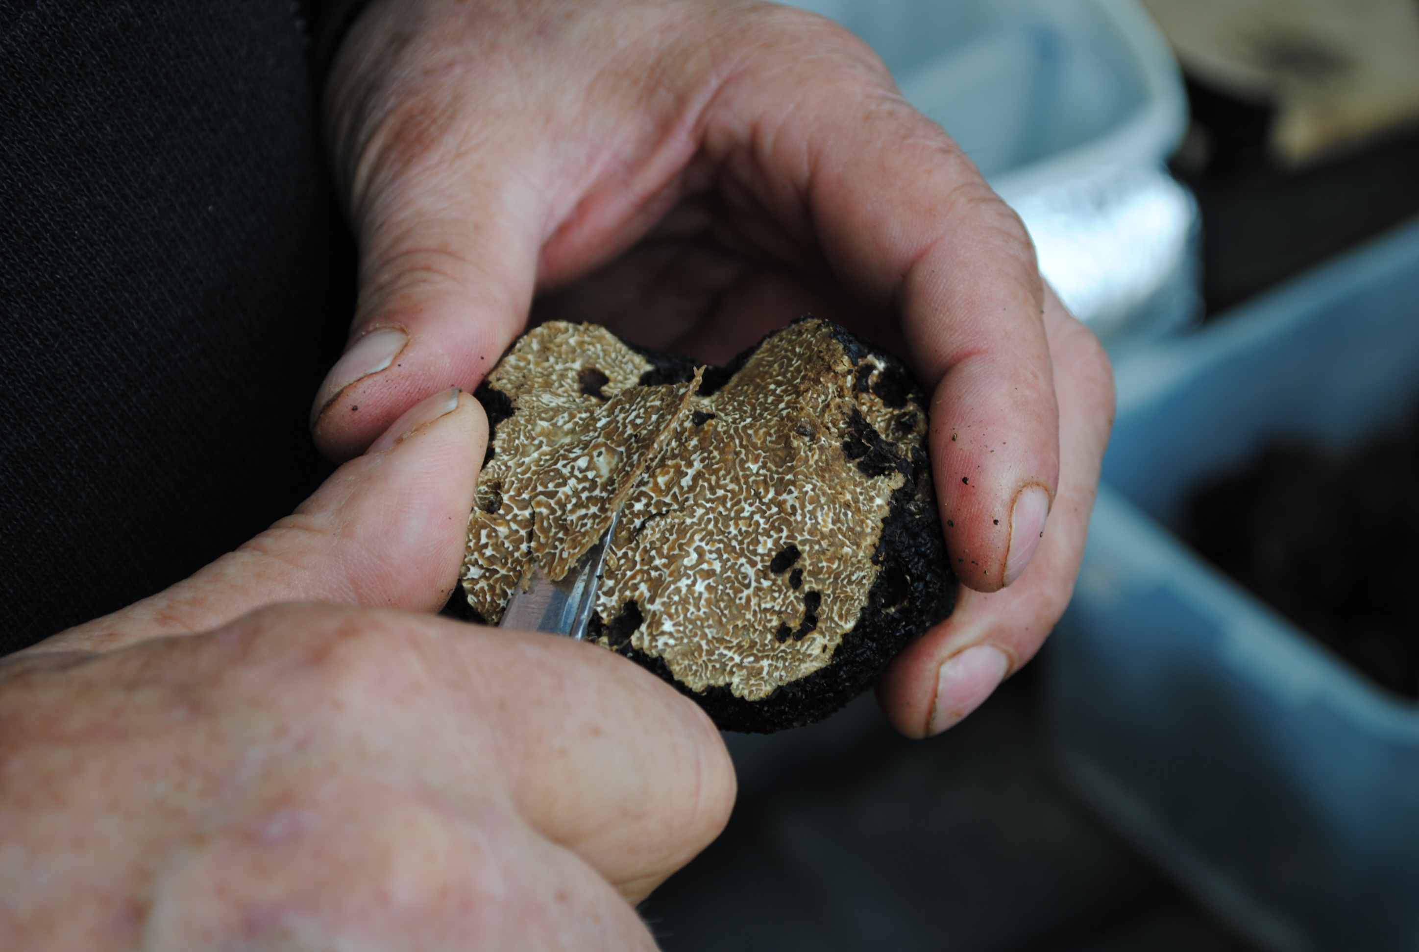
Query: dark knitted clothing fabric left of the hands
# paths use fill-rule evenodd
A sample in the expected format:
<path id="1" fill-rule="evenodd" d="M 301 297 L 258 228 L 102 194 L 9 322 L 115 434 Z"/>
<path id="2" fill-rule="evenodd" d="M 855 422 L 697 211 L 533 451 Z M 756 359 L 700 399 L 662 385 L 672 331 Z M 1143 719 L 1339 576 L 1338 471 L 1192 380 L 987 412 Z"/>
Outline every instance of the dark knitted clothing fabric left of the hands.
<path id="1" fill-rule="evenodd" d="M 183 577 L 328 471 L 307 413 L 352 253 L 305 13 L 0 3 L 0 653 Z"/>

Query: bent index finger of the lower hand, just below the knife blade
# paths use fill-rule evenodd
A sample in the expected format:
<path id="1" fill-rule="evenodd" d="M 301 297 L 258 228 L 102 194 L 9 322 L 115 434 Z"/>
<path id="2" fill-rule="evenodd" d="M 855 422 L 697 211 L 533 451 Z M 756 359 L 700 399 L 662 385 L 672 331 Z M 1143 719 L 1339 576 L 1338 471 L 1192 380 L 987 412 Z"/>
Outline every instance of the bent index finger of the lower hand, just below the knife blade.
<path id="1" fill-rule="evenodd" d="M 341 756 L 311 759 L 312 772 L 377 762 L 458 810 L 507 790 L 509 809 L 630 898 L 714 840 L 734 804 L 734 766 L 704 711 L 597 646 L 407 611 L 277 606 L 210 647 L 200 664 L 260 698 L 264 716 L 335 738 Z"/>

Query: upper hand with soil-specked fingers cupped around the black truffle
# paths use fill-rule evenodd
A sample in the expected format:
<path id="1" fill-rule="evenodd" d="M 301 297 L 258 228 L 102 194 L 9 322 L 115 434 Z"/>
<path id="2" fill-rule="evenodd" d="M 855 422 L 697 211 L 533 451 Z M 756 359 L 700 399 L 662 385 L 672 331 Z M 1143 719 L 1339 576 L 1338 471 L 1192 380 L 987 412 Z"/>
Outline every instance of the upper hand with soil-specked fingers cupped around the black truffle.
<path id="1" fill-rule="evenodd" d="M 360 245 L 350 346 L 312 413 L 328 454 L 473 387 L 534 297 L 532 319 L 712 362 L 813 312 L 931 389 L 971 589 L 884 680 L 891 721 L 945 729 L 1040 647 L 1083 553 L 1108 362 L 860 41 L 758 0 L 375 0 L 326 123 Z"/>

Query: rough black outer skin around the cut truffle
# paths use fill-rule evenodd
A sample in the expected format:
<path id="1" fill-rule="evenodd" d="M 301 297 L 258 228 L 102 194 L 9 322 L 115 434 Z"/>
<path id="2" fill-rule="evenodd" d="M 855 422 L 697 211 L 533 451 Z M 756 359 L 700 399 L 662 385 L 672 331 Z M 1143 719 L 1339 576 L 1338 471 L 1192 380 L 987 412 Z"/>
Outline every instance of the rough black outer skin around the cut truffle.
<path id="1" fill-rule="evenodd" d="M 800 318 L 806 319 L 806 318 Z M 927 414 L 927 400 L 921 384 L 897 358 L 873 349 L 843 328 L 834 329 L 834 339 L 843 346 L 847 359 L 856 367 L 868 355 L 880 360 L 888 373 L 894 392 L 888 406 L 901 402 L 922 416 Z M 711 393 L 742 367 L 758 349 L 755 345 L 731 360 L 725 367 L 711 367 L 701 383 L 701 393 Z M 684 383 L 694 376 L 692 360 L 636 348 L 650 363 L 640 380 L 644 384 Z M 505 419 L 511 404 L 505 394 L 484 384 L 475 393 L 488 409 L 490 447 L 491 427 Z M 494 409 L 497 407 L 497 409 Z M 505 407 L 505 409 L 504 409 Z M 501 414 L 501 416 L 499 416 Z M 495 420 L 497 417 L 497 420 Z M 932 492 L 931 463 L 925 447 L 915 447 L 911 458 L 898 453 L 877 451 L 881 434 L 863 421 L 866 431 L 854 433 L 867 444 L 867 453 L 858 460 L 858 467 L 894 467 L 905 475 L 902 485 L 893 492 L 887 521 L 878 538 L 873 565 L 880 566 L 877 579 L 868 590 L 867 606 L 858 616 L 857 626 L 843 636 L 841 644 L 833 653 L 833 660 L 823 668 L 803 678 L 776 688 L 759 701 L 745 701 L 734 697 L 727 687 L 711 687 L 694 691 L 674 678 L 670 667 L 657 657 L 637 651 L 629 638 L 612 650 L 637 661 L 643 667 L 673 684 L 681 694 L 694 699 L 710 718 L 724 731 L 746 734 L 772 734 L 785 728 L 803 726 L 829 716 L 858 694 L 870 688 L 887 664 L 917 636 L 951 614 L 956 602 L 956 577 L 946 558 L 946 543 L 941 532 L 941 518 L 937 512 Z M 885 450 L 885 447 L 883 447 Z M 871 474 L 870 474 L 871 475 Z M 639 611 L 637 611 L 639 614 Z M 464 614 L 467 617 L 467 614 Z M 599 636 L 607 626 L 614 627 L 616 619 L 592 619 L 592 634 Z"/>

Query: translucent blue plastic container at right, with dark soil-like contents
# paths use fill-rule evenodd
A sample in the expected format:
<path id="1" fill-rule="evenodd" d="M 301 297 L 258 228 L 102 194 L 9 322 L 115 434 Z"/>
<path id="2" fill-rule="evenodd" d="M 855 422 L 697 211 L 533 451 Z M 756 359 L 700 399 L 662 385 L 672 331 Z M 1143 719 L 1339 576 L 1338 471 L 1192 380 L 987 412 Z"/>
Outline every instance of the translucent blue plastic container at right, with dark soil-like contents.
<path id="1" fill-rule="evenodd" d="M 1067 777 L 1267 946 L 1419 949 L 1419 705 L 1169 532 L 1271 438 L 1344 448 L 1415 406 L 1419 223 L 1117 376 L 1111 489 L 1044 658 Z"/>

